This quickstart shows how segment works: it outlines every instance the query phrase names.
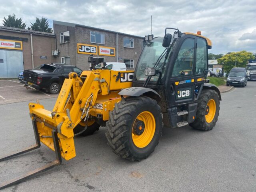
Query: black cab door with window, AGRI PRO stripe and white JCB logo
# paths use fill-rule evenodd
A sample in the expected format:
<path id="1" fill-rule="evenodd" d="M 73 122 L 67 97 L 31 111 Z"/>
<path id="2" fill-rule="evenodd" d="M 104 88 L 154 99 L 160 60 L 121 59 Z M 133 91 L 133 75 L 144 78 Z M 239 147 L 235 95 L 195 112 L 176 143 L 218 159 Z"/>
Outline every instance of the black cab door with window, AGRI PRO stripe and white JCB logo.
<path id="1" fill-rule="evenodd" d="M 167 83 L 168 108 L 194 101 L 196 38 L 181 38 L 182 43 L 174 53 L 174 60 Z M 176 56 L 175 56 L 176 55 Z"/>

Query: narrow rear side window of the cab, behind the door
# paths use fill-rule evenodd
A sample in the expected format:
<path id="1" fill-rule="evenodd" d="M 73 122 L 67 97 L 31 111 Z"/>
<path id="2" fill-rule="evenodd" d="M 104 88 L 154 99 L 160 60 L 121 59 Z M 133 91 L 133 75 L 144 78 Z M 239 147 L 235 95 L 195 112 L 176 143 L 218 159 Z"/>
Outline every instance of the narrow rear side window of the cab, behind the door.
<path id="1" fill-rule="evenodd" d="M 207 46 L 204 39 L 197 39 L 196 47 L 196 75 L 204 74 L 204 71 L 207 70 Z"/>

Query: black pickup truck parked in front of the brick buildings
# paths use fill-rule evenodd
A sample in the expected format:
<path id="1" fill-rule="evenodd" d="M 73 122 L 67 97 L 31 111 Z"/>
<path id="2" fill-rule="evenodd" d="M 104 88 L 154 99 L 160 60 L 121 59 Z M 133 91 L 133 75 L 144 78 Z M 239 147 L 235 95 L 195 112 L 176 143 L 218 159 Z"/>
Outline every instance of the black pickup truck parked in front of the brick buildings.
<path id="1" fill-rule="evenodd" d="M 70 72 L 76 72 L 80 76 L 82 70 L 62 63 L 42 64 L 36 70 L 24 70 L 22 82 L 27 88 L 57 94 Z"/>

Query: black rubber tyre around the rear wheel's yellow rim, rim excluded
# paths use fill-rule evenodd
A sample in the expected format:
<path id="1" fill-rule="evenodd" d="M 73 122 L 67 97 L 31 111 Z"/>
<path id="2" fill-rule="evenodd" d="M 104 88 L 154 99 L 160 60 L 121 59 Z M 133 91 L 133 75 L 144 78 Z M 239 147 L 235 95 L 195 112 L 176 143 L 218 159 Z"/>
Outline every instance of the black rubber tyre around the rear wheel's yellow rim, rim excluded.
<path id="1" fill-rule="evenodd" d="M 216 111 L 212 122 L 206 122 L 206 107 L 208 101 L 213 99 L 216 104 Z M 218 93 L 214 90 L 204 89 L 201 92 L 201 95 L 198 99 L 198 106 L 196 112 L 196 120 L 190 124 L 194 129 L 202 130 L 202 131 L 210 131 L 215 126 L 220 111 L 220 100 Z"/>

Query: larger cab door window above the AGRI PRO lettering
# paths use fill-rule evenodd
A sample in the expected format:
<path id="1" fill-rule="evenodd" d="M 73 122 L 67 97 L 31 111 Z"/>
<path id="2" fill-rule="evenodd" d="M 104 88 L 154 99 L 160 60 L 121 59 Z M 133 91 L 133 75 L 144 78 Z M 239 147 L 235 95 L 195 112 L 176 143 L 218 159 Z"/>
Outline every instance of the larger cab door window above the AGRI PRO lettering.
<path id="1" fill-rule="evenodd" d="M 195 40 L 192 38 L 184 40 L 172 70 L 172 77 L 188 76 L 193 74 L 194 50 Z"/>

